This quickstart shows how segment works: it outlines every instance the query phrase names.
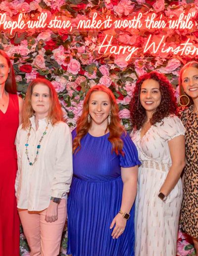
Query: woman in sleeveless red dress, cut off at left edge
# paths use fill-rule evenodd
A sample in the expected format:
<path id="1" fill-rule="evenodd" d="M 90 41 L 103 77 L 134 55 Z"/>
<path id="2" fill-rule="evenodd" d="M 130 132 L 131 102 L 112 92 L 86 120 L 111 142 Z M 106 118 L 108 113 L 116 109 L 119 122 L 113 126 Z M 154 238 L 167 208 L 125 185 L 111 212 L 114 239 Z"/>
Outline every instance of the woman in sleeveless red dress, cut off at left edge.
<path id="1" fill-rule="evenodd" d="M 0 50 L 0 256 L 19 256 L 14 142 L 22 104 L 23 100 L 16 94 L 13 66 L 9 57 Z"/>

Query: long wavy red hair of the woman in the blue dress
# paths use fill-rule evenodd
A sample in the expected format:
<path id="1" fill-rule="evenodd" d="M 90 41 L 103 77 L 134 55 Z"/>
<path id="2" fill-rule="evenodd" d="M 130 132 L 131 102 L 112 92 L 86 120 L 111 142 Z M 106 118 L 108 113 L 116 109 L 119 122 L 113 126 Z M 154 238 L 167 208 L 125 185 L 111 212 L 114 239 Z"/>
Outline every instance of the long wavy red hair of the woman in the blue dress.
<path id="1" fill-rule="evenodd" d="M 81 117 L 77 121 L 77 127 L 76 127 L 76 137 L 73 140 L 73 152 L 77 152 L 81 148 L 81 139 L 83 136 L 85 136 L 91 127 L 91 122 L 88 122 L 88 116 L 89 116 L 89 101 L 90 101 L 90 96 L 93 92 L 95 91 L 102 91 L 105 92 L 111 103 L 111 121 L 110 124 L 108 124 L 107 128 L 109 129 L 109 137 L 108 140 L 112 144 L 112 151 L 115 151 L 115 153 L 118 155 L 124 154 L 122 151 L 123 148 L 123 141 L 120 138 L 123 132 L 126 132 L 124 128 L 120 124 L 120 119 L 118 116 L 118 105 L 116 103 L 115 97 L 110 89 L 103 85 L 96 85 L 92 87 L 84 100 L 83 104 L 83 112 Z"/>

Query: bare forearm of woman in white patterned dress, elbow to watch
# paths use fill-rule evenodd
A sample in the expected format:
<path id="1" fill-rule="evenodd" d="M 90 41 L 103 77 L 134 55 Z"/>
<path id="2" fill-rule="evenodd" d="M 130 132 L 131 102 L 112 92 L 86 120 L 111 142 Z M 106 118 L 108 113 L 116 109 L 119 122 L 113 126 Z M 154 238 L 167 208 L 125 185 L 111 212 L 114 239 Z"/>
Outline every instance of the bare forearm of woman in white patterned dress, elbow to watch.
<path id="1" fill-rule="evenodd" d="M 177 166 L 172 165 L 168 175 L 161 186 L 160 192 L 165 194 L 166 196 L 169 195 L 169 193 L 174 189 L 175 185 L 178 183 L 182 170 L 184 168 L 184 164 L 180 164 Z"/>

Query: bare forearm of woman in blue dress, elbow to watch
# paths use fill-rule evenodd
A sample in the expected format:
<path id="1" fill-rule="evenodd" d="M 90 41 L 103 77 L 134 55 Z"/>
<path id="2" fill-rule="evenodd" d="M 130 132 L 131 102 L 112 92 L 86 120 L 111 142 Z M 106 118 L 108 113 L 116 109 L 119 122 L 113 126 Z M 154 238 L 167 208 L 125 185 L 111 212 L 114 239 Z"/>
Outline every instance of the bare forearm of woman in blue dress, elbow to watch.
<path id="1" fill-rule="evenodd" d="M 137 193 L 137 180 L 127 180 L 124 182 L 122 192 L 122 203 L 120 210 L 129 213 L 136 198 Z"/>

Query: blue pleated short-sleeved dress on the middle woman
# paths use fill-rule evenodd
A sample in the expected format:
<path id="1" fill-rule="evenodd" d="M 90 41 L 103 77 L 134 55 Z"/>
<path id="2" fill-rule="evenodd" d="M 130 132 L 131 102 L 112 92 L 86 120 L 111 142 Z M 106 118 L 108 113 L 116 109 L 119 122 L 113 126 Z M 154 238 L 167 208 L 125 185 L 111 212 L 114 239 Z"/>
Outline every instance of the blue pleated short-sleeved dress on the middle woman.
<path id="1" fill-rule="evenodd" d="M 73 130 L 72 137 L 76 136 Z M 87 133 L 73 155 L 73 180 L 68 197 L 68 251 L 72 256 L 134 256 L 134 205 L 124 233 L 112 239 L 109 229 L 120 210 L 121 167 L 141 164 L 130 136 L 123 135 L 125 155 L 111 153 L 109 133 Z"/>

